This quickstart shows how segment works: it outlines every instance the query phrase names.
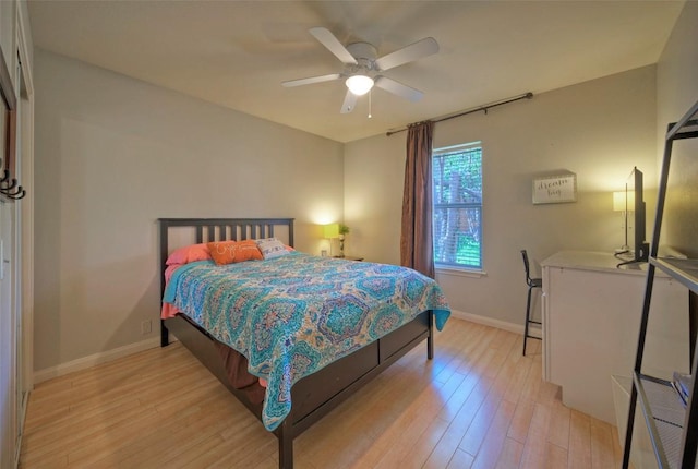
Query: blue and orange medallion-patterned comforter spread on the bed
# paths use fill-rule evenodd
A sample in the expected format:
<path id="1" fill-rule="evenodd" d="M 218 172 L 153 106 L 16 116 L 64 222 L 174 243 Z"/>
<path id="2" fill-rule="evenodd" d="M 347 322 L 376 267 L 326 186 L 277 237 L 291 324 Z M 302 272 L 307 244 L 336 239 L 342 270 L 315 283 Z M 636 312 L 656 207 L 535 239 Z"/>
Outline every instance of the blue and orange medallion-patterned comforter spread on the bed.
<path id="1" fill-rule="evenodd" d="M 441 330 L 450 309 L 438 285 L 394 265 L 299 252 L 174 272 L 164 301 L 248 358 L 267 381 L 262 421 L 276 429 L 291 410 L 300 378 L 434 311 Z"/>

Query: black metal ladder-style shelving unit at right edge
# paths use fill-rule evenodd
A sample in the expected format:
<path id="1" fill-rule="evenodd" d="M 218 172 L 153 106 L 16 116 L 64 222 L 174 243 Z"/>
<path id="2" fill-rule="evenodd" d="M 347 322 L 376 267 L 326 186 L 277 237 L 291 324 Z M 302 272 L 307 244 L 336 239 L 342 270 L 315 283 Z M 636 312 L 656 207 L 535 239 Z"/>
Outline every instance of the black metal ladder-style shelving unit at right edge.
<path id="1" fill-rule="evenodd" d="M 628 410 L 623 454 L 624 469 L 627 469 L 630 464 L 633 426 L 635 423 L 635 412 L 638 407 L 645 417 L 659 467 L 672 469 L 696 467 L 696 449 L 698 448 L 698 393 L 694 393 L 695 385 L 691 384 L 688 399 L 686 404 L 684 404 L 671 382 L 642 374 L 641 372 L 655 270 L 659 268 L 685 286 L 687 288 L 686 294 L 688 294 L 688 292 L 698 294 L 698 258 L 658 256 L 673 144 L 677 140 L 696 137 L 698 137 L 698 103 L 694 104 L 682 119 L 669 125 L 665 136 L 664 159 L 662 163 L 657 200 L 657 216 L 650 246 L 637 354 L 633 371 L 630 407 Z M 698 154 L 695 155 L 695 157 L 696 164 L 698 165 Z M 698 184 L 698 181 L 696 181 L 696 184 Z M 688 314 L 688 312 L 686 313 Z M 698 347 L 697 344 L 693 344 L 691 346 L 694 350 L 690 369 L 691 376 L 696 376 L 698 372 Z M 695 381 L 696 380 L 694 380 L 693 383 L 695 383 Z"/>

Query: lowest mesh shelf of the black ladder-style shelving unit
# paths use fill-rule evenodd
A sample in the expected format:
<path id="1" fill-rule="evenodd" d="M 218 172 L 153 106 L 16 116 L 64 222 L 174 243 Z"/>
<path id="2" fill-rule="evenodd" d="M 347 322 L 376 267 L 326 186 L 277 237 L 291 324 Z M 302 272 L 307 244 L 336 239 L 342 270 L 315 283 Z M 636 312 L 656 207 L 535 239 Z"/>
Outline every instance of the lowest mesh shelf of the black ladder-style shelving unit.
<path id="1" fill-rule="evenodd" d="M 660 467 L 678 468 L 686 416 L 681 398 L 667 381 L 639 373 L 634 381 Z"/>

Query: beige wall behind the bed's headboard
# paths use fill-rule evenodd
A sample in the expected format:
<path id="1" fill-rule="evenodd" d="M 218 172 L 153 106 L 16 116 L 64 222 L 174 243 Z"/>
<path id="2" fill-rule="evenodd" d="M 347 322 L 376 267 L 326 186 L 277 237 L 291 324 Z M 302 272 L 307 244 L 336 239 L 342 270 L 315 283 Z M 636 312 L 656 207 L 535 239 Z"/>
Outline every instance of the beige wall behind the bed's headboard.
<path id="1" fill-rule="evenodd" d="M 35 51 L 35 370 L 157 337 L 158 217 L 340 219 L 337 142 Z M 141 335 L 152 320 L 153 333 Z"/>

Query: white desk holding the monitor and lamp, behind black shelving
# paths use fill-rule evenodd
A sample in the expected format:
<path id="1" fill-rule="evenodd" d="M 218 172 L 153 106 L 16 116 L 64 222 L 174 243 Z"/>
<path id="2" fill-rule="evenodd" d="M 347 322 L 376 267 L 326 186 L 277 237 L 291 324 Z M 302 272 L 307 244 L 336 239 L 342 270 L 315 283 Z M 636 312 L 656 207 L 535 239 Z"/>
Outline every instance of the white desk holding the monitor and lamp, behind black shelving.
<path id="1" fill-rule="evenodd" d="M 563 251 L 541 263 L 543 377 L 562 386 L 566 406 L 613 425 L 612 375 L 633 373 L 647 281 L 647 265 L 618 269 L 618 262 Z M 688 372 L 686 289 L 658 274 L 651 311 L 642 370 L 664 378 Z"/>

